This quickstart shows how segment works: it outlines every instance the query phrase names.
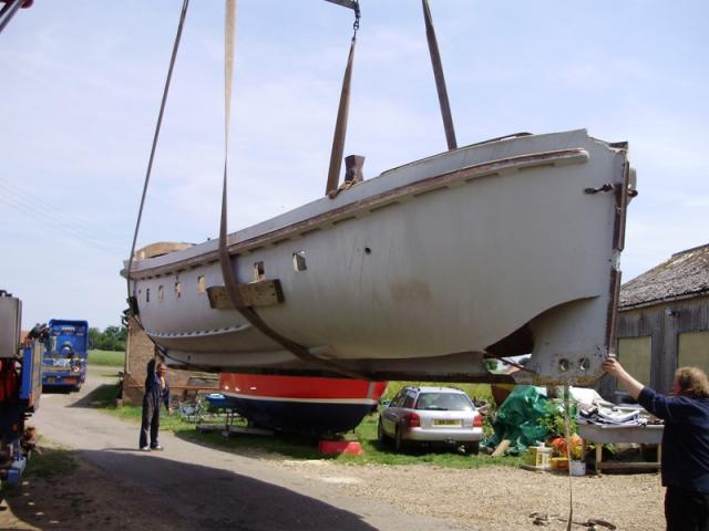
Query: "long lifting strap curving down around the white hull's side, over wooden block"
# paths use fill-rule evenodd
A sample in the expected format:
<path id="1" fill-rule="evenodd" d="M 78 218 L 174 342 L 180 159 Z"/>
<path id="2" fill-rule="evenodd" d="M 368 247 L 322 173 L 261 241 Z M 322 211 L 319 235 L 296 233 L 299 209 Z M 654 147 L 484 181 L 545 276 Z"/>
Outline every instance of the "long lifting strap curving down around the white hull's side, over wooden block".
<path id="1" fill-rule="evenodd" d="M 302 362 L 319 367 L 325 371 L 338 373 L 351 378 L 366 378 L 362 374 L 349 371 L 340 367 L 336 363 L 310 354 L 306 346 L 302 346 L 295 341 L 284 337 L 278 332 L 273 330 L 264 320 L 256 313 L 251 306 L 247 306 L 244 302 L 244 298 L 237 288 L 237 279 L 235 273 L 235 259 L 232 259 L 229 250 L 227 249 L 227 166 L 228 166 L 228 145 L 229 145 L 229 117 L 232 113 L 232 77 L 234 72 L 234 34 L 236 23 L 236 0 L 226 0 L 226 19 L 224 31 L 224 45 L 225 45 L 225 84 L 224 84 L 224 178 L 222 185 L 222 215 L 219 220 L 219 266 L 222 267 L 222 275 L 224 278 L 224 285 L 229 295 L 234 308 L 246 319 L 255 329 L 261 332 L 267 337 L 271 339 L 284 348 L 292 353 L 297 358 Z M 357 30 L 356 30 L 357 31 Z"/>

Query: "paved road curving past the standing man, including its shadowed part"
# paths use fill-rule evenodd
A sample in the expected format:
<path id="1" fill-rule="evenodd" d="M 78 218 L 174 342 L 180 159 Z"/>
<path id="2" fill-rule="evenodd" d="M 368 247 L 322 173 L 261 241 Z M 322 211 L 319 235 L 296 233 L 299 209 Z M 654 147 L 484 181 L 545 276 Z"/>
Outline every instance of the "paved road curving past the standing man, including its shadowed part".
<path id="1" fill-rule="evenodd" d="M 79 450 L 130 487 L 126 497 L 150 499 L 156 511 L 174 518 L 175 529 L 452 529 L 438 520 L 401 513 L 379 500 L 347 498 L 331 483 L 298 476 L 277 462 L 205 448 L 169 434 L 161 434 L 164 451 L 141 452 L 135 425 L 85 405 L 86 395 L 107 382 L 92 371 L 80 393 L 43 395 L 33 424 L 43 437 Z M 136 510 L 144 504 L 136 502 Z"/>

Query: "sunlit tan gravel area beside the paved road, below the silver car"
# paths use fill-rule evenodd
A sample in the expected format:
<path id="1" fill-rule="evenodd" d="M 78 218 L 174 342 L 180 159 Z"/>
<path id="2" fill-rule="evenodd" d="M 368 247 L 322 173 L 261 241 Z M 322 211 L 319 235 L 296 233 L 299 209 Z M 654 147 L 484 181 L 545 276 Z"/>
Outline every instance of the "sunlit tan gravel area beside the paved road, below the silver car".
<path id="1" fill-rule="evenodd" d="M 563 475 L 510 467 L 343 467 L 294 460 L 282 465 L 352 496 L 384 500 L 405 513 L 441 519 L 462 529 L 528 531 L 537 529 L 530 518 L 533 512 L 568 514 L 569 478 Z M 571 486 L 575 521 L 602 519 L 619 530 L 665 529 L 665 489 L 657 473 L 587 476 L 572 478 Z M 566 529 L 566 524 L 553 522 L 546 529 Z"/>

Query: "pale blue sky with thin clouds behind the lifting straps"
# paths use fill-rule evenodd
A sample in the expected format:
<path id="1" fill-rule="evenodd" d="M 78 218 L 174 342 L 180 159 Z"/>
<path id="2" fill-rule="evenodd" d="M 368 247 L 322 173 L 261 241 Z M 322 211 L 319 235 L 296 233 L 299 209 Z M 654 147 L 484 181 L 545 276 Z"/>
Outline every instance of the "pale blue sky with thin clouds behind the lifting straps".
<path id="1" fill-rule="evenodd" d="M 366 176 L 445 150 L 419 0 L 361 0 L 346 154 Z M 709 3 L 430 0 L 459 145 L 628 140 L 629 280 L 709 242 Z M 0 34 L 0 289 L 23 324 L 119 324 L 181 0 L 37 0 Z M 193 0 L 138 247 L 218 232 L 224 2 Z M 322 195 L 351 11 L 238 2 L 229 230 Z"/>

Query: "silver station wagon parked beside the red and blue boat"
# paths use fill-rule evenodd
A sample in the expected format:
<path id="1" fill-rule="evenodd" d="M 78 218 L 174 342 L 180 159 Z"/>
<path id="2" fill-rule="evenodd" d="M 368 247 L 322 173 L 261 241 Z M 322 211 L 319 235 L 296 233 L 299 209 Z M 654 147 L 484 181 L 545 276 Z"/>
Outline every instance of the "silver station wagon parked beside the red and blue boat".
<path id="1" fill-rule="evenodd" d="M 404 387 L 379 415 L 377 436 L 397 451 L 411 442 L 442 442 L 477 454 L 483 418 L 470 397 L 454 387 Z"/>

